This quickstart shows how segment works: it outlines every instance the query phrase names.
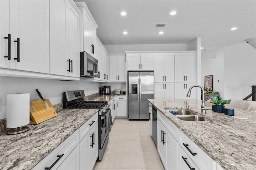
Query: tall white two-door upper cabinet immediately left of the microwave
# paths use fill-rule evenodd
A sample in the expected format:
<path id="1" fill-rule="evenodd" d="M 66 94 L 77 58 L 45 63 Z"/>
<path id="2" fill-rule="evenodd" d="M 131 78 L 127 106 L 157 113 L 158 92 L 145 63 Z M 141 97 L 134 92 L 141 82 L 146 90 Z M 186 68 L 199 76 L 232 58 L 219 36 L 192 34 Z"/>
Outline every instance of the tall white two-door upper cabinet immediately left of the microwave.
<path id="1" fill-rule="evenodd" d="M 79 14 L 74 2 L 50 1 L 51 74 L 80 77 Z"/>

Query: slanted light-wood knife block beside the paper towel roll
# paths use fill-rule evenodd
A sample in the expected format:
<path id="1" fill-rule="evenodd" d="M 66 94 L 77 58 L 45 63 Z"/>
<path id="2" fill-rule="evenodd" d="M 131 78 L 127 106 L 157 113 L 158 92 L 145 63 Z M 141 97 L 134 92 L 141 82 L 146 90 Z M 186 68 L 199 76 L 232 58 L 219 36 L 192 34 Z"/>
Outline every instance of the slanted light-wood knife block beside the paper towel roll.
<path id="1" fill-rule="evenodd" d="M 57 116 L 57 113 L 55 109 L 52 107 L 52 104 L 50 103 L 49 99 L 46 99 L 46 102 L 50 107 L 50 111 L 46 108 L 42 100 L 31 102 L 36 110 L 36 113 L 34 112 L 32 107 L 30 107 L 30 124 L 38 124 L 48 119 L 51 119 L 52 117 Z"/>

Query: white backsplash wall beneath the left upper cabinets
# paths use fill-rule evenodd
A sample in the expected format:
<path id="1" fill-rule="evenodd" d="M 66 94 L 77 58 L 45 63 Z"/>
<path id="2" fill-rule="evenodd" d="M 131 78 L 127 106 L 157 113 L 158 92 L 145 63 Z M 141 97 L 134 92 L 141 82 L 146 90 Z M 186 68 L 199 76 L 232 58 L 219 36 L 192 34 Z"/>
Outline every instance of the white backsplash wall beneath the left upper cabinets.
<path id="1" fill-rule="evenodd" d="M 44 97 L 48 93 L 52 105 L 63 102 L 63 92 L 84 90 L 85 95 L 99 93 L 102 83 L 81 81 L 60 81 L 52 79 L 35 79 L 23 77 L 0 76 L 1 111 L 0 119 L 6 118 L 7 93 L 30 93 L 30 101 L 40 100 L 36 89 Z"/>

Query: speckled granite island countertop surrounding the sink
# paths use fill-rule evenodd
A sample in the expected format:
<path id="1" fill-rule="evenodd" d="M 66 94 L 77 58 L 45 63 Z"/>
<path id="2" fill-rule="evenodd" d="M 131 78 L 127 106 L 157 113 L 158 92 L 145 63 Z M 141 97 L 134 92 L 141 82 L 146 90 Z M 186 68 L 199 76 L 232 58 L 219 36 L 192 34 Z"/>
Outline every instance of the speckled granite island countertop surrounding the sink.
<path id="1" fill-rule="evenodd" d="M 212 111 L 212 103 L 206 101 L 206 114 L 201 113 L 200 100 L 149 99 L 163 115 L 196 143 L 206 154 L 224 169 L 256 169 L 256 115 L 251 111 L 235 109 L 233 116 Z M 164 108 L 191 109 L 212 121 L 182 121 Z"/>

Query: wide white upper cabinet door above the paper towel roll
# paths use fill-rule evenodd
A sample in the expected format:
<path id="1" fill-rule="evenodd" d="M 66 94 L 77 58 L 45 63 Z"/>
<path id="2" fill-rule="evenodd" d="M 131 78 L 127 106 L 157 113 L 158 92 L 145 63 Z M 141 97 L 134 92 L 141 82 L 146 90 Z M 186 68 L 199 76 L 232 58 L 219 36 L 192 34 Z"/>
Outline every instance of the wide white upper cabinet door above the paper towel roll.
<path id="1" fill-rule="evenodd" d="M 12 36 L 10 68 L 49 73 L 49 0 L 9 2 Z"/>

